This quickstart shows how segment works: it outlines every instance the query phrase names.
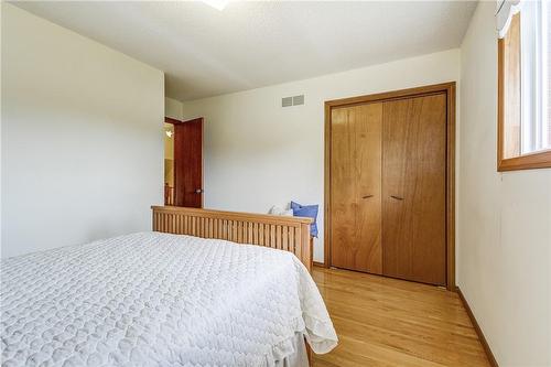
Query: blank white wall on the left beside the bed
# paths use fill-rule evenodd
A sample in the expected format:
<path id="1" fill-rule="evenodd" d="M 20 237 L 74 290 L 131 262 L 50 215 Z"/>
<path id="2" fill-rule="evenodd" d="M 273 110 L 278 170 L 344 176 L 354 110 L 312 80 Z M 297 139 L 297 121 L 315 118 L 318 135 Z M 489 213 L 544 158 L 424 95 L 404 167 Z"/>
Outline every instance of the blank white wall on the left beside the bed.
<path id="1" fill-rule="evenodd" d="M 149 230 L 163 73 L 1 7 L 2 257 Z"/>

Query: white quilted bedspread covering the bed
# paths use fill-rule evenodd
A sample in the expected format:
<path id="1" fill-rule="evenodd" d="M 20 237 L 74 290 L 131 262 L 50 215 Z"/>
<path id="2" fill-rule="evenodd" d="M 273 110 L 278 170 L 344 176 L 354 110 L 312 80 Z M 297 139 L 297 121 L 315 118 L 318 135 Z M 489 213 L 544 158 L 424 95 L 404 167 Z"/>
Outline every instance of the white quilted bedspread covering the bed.
<path id="1" fill-rule="evenodd" d="M 272 366 L 336 345 L 290 252 L 140 233 L 1 261 L 2 366 Z"/>

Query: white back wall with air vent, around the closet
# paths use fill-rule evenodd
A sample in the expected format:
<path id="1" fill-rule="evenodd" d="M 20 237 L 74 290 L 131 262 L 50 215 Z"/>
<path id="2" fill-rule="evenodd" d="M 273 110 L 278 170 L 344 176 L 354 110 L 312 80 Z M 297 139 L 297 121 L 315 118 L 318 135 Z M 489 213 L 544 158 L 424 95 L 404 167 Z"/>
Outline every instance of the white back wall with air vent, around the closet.
<path id="1" fill-rule="evenodd" d="M 204 116 L 205 207 L 266 213 L 291 199 L 318 203 L 323 261 L 324 101 L 458 79 L 458 50 L 184 102 Z M 305 105 L 281 108 L 304 94 Z"/>

